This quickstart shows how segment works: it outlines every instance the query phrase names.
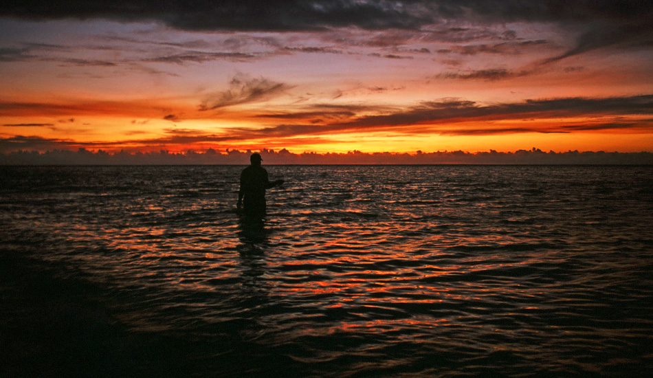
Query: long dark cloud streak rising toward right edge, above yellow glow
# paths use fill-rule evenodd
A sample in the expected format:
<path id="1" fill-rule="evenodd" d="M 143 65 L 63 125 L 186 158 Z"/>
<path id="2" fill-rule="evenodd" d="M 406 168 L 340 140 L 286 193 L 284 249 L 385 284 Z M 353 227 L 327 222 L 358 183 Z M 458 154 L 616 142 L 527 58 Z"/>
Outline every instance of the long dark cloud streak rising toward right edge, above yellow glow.
<path id="1" fill-rule="evenodd" d="M 557 117 L 591 117 L 595 115 L 648 115 L 653 114 L 653 95 L 615 97 L 615 98 L 556 98 L 545 100 L 526 100 L 508 104 L 480 105 L 466 100 L 441 100 L 423 102 L 423 104 L 406 111 L 395 111 L 381 115 L 368 115 L 352 118 L 346 122 L 326 125 L 314 124 L 282 124 L 258 131 L 247 131 L 258 137 L 289 137 L 294 135 L 328 134 L 342 131 L 361 130 L 399 130 L 410 129 L 411 133 L 448 133 L 463 135 L 494 134 L 516 132 L 563 133 L 574 130 L 604 130 L 653 129 L 650 121 L 639 123 L 601 123 L 582 126 L 533 126 L 513 129 L 492 129 L 491 125 L 483 129 L 434 129 L 432 125 L 451 124 L 456 122 L 487 122 L 496 120 L 522 120 L 524 118 L 557 118 Z M 426 125 L 427 127 L 424 127 Z M 603 125 L 603 126 L 600 126 Z M 399 128 L 399 129 L 397 129 Z"/>

